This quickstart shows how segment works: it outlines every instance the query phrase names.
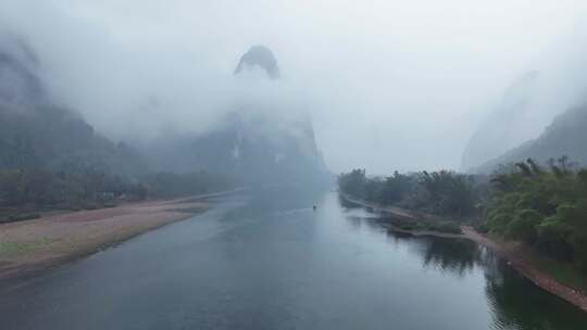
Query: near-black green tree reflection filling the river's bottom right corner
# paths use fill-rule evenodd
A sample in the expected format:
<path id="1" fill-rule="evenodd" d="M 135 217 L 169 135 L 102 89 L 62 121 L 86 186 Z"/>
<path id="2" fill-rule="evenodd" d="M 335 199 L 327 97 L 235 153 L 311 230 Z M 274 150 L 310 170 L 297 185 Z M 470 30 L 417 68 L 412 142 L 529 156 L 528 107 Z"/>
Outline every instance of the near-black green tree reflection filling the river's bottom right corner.
<path id="1" fill-rule="evenodd" d="M 504 262 L 488 265 L 486 295 L 494 329 L 587 329 L 587 315 L 563 300 L 534 285 Z"/>

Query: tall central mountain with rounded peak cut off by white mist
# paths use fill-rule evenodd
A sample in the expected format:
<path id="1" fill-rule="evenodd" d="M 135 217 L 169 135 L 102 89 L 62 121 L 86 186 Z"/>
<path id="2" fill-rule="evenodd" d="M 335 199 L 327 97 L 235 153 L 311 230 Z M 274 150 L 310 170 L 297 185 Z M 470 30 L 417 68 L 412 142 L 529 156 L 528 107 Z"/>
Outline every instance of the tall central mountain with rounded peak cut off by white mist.
<path id="1" fill-rule="evenodd" d="M 251 47 L 240 58 L 235 75 L 255 66 L 264 69 L 270 79 L 279 78 L 277 60 L 267 47 Z M 274 112 L 284 110 L 268 109 L 267 113 L 252 107 L 254 104 L 248 104 L 240 112 L 230 113 L 222 128 L 233 134 L 230 156 L 237 166 L 245 172 L 258 172 L 254 176 L 282 180 L 325 175 L 314 129 L 305 113 L 275 117 Z"/>

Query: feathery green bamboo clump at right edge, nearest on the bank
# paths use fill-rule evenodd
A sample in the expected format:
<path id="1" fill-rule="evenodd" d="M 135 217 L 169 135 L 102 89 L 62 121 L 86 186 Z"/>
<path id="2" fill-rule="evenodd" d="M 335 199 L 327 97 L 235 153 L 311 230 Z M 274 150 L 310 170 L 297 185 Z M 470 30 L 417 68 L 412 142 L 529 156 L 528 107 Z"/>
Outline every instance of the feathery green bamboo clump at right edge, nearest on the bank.
<path id="1" fill-rule="evenodd" d="M 523 241 L 587 272 L 587 169 L 574 169 L 564 156 L 547 167 L 528 158 L 491 182 L 479 230 Z"/>

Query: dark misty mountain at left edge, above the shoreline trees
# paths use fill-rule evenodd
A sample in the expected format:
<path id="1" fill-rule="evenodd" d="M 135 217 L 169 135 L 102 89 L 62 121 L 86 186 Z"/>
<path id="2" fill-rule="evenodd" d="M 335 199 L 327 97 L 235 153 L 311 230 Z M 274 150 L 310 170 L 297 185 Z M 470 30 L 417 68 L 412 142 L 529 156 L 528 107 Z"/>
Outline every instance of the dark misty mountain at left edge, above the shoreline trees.
<path id="1" fill-rule="evenodd" d="M 51 101 L 36 54 L 0 38 L 0 168 L 138 174 L 141 157 L 95 132 L 80 115 Z"/>

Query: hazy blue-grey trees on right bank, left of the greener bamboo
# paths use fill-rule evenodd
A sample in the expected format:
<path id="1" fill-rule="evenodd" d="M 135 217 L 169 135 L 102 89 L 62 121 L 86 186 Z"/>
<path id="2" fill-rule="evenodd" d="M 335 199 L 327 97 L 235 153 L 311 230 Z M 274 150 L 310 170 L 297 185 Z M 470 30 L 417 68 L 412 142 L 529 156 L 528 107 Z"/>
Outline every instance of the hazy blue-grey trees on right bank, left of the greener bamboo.
<path id="1" fill-rule="evenodd" d="M 478 215 L 476 205 L 486 194 L 486 182 L 482 176 L 448 170 L 396 172 L 382 178 L 367 177 L 364 169 L 353 169 L 338 177 L 340 191 L 354 198 L 459 219 Z"/>

